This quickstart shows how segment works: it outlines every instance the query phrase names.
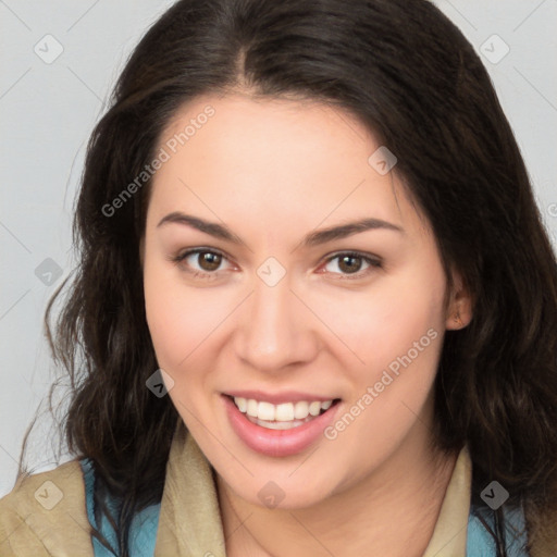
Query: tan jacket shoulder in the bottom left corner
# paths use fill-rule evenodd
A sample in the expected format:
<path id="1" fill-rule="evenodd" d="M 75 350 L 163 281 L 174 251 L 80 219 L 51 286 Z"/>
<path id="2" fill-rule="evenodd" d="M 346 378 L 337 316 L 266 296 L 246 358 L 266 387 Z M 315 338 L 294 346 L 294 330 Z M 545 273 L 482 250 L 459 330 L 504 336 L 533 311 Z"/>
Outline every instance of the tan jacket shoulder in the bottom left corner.
<path id="1" fill-rule="evenodd" d="M 78 460 L 22 476 L 0 499 L 0 555 L 92 557 Z"/>

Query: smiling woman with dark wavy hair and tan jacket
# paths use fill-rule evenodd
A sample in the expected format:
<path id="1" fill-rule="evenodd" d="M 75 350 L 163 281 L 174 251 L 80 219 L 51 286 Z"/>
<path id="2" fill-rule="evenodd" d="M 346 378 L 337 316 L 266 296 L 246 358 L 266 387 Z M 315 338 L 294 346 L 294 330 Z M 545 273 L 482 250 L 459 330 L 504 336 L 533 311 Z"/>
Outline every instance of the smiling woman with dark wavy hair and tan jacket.
<path id="1" fill-rule="evenodd" d="M 135 50 L 52 346 L 77 458 L 2 499 L 2 555 L 556 555 L 519 149 L 436 8 L 348 8 L 181 1 Z"/>

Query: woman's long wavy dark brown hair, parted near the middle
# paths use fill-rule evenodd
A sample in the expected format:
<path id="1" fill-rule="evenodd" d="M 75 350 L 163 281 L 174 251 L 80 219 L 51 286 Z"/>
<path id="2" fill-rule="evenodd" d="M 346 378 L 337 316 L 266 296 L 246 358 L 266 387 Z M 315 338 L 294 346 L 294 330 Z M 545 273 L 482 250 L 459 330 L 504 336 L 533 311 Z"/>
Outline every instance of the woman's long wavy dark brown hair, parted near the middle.
<path id="1" fill-rule="evenodd" d="M 184 103 L 237 88 L 350 111 L 398 158 L 447 280 L 457 270 L 473 298 L 471 323 L 445 335 L 435 442 L 468 445 L 473 500 L 492 480 L 509 492 L 485 522 L 505 556 L 502 509 L 528 508 L 534 532 L 557 500 L 557 263 L 488 74 L 425 0 L 181 0 L 127 61 L 87 147 L 78 263 L 45 315 L 71 380 L 64 438 L 94 462 L 102 512 L 102 493 L 122 503 L 113 553 L 128 556 L 134 512 L 161 500 L 178 413 L 146 387 L 159 367 L 139 260 L 150 181 L 113 216 L 102 208 L 153 160 Z"/>

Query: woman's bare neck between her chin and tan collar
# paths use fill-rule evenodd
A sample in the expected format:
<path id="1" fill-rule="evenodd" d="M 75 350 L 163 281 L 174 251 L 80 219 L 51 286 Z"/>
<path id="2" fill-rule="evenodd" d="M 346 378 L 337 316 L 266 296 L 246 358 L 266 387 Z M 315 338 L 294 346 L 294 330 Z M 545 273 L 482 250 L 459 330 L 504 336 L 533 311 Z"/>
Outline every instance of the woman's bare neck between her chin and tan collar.
<path id="1" fill-rule="evenodd" d="M 424 432 L 423 424 L 417 423 L 379 469 L 311 507 L 253 505 L 218 475 L 226 555 L 421 557 L 458 456 L 434 451 Z"/>

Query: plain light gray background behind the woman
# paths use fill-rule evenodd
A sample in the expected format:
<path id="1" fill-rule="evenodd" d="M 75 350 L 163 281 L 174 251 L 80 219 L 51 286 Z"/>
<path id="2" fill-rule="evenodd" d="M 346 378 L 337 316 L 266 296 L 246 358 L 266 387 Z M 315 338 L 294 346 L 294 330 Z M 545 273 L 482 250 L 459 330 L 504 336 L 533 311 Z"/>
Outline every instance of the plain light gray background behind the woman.
<path id="1" fill-rule="evenodd" d="M 48 410 L 38 405 L 58 373 L 42 315 L 73 268 L 72 209 L 87 138 L 128 53 L 172 3 L 0 0 L 0 496 L 12 488 L 24 432 L 37 409 Z M 435 3 L 490 71 L 557 245 L 557 0 Z M 54 466 L 50 428 L 44 413 L 28 453 L 36 471 Z"/>

